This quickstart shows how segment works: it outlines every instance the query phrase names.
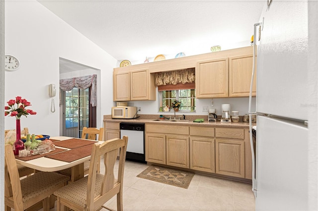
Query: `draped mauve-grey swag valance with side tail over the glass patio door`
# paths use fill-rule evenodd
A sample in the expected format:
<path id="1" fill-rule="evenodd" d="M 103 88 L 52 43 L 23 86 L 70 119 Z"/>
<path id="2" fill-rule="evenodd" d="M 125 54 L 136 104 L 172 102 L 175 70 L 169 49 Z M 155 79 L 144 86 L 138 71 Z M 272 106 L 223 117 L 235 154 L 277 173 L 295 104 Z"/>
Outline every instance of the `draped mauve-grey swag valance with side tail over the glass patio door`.
<path id="1" fill-rule="evenodd" d="M 90 104 L 91 106 L 97 105 L 97 75 L 87 75 L 60 80 L 60 89 L 63 91 L 70 91 L 75 86 L 79 89 L 87 89 L 91 86 Z"/>

